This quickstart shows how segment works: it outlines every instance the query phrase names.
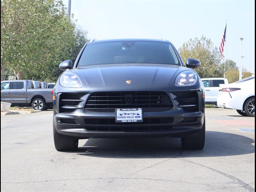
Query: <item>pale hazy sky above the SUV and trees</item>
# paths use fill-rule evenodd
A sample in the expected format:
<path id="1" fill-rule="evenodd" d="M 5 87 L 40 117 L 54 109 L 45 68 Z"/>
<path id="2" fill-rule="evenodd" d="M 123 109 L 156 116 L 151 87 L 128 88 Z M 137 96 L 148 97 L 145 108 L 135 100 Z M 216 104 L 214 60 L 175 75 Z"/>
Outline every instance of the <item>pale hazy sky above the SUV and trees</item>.
<path id="1" fill-rule="evenodd" d="M 68 0 L 63 0 L 68 6 Z M 202 35 L 219 47 L 226 30 L 226 59 L 255 72 L 254 0 L 71 0 L 71 14 L 89 38 L 165 38 L 178 49 Z"/>

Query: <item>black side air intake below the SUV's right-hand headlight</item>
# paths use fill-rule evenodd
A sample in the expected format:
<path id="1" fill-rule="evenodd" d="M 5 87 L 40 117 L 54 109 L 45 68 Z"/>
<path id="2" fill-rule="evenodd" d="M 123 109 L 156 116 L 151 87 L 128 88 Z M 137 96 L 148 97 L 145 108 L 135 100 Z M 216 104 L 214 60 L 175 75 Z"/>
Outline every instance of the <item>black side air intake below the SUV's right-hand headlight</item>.
<path id="1" fill-rule="evenodd" d="M 196 112 L 199 110 L 198 106 L 198 92 L 172 92 L 174 100 L 178 102 L 178 106 L 182 107 L 184 111 Z"/>

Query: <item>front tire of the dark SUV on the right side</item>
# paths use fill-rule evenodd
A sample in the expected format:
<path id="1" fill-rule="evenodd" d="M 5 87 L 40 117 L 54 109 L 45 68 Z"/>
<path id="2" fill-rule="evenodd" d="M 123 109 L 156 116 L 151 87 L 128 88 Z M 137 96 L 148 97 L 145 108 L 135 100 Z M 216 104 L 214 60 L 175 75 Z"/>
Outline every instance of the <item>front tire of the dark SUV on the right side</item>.
<path id="1" fill-rule="evenodd" d="M 204 148 L 205 141 L 205 119 L 200 133 L 196 137 L 181 138 L 181 145 L 183 149 L 200 150 Z"/>

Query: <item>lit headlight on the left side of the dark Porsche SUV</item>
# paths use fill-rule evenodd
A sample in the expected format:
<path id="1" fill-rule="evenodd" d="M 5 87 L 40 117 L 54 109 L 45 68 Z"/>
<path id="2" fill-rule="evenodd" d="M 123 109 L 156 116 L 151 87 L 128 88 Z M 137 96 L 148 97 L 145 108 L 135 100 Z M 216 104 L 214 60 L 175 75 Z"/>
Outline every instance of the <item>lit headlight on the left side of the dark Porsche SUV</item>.
<path id="1" fill-rule="evenodd" d="M 80 88 L 82 82 L 80 78 L 74 73 L 64 73 L 60 76 L 60 85 L 63 87 Z"/>

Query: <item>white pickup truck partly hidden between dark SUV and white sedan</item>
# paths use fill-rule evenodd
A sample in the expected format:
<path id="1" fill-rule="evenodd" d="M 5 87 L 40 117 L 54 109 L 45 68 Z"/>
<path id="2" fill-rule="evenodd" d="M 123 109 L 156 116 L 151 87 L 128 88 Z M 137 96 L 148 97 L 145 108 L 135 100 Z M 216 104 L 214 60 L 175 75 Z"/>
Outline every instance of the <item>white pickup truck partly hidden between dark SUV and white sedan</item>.
<path id="1" fill-rule="evenodd" d="M 205 91 L 205 103 L 217 104 L 217 97 L 220 90 L 220 84 L 228 84 L 226 78 L 202 78 Z"/>

